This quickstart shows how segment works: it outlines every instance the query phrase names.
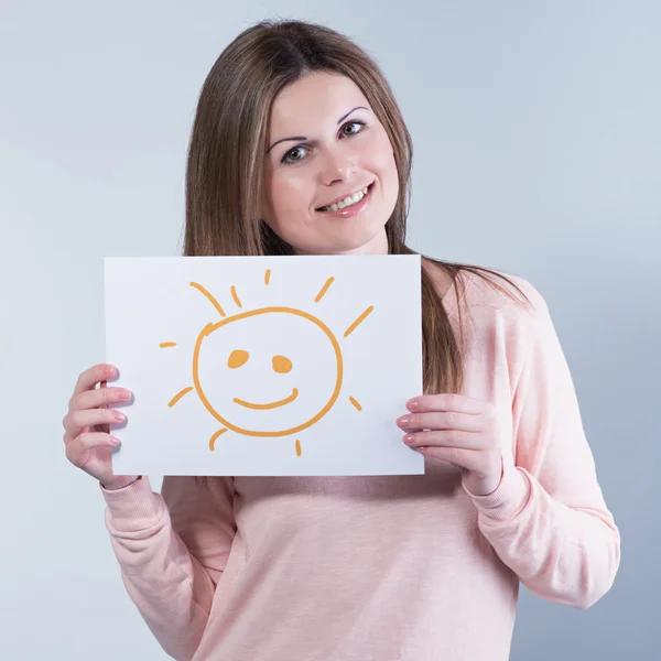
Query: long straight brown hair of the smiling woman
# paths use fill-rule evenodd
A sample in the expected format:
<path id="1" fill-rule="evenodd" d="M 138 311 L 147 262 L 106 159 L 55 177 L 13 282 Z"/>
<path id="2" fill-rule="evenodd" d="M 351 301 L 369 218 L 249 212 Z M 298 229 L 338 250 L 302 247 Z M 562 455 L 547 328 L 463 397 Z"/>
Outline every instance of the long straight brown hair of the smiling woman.
<path id="1" fill-rule="evenodd" d="M 218 57 L 199 96 L 186 170 L 185 256 L 291 254 L 292 248 L 259 218 L 263 154 L 278 94 L 304 74 L 327 71 L 360 88 L 384 127 L 394 151 L 399 196 L 386 224 L 389 252 L 413 253 L 405 245 L 413 148 L 392 90 L 378 65 L 350 39 L 302 21 L 263 21 L 242 32 Z M 490 269 L 422 259 L 423 381 L 425 392 L 459 392 L 464 369 L 459 343 L 434 283 L 441 269 L 463 296 L 460 271 L 506 280 Z"/>

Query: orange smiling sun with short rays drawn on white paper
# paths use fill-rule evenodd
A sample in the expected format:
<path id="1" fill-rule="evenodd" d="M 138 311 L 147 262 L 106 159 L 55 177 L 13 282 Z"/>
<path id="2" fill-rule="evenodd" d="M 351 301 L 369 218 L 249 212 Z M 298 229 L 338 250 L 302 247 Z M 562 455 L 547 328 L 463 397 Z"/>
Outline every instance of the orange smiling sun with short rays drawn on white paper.
<path id="1" fill-rule="evenodd" d="M 270 278 L 271 270 L 267 269 L 264 285 L 269 285 Z M 326 280 L 314 299 L 315 303 L 323 299 L 334 280 L 333 277 Z M 223 425 L 209 438 L 210 451 L 215 451 L 216 440 L 228 430 L 245 436 L 289 436 L 314 425 L 330 411 L 342 391 L 344 359 L 339 342 L 324 322 L 308 312 L 286 306 L 258 307 L 228 316 L 214 295 L 202 284 L 191 282 L 191 286 L 208 299 L 221 318 L 207 324 L 198 334 L 193 350 L 193 386 L 177 392 L 167 405 L 174 407 L 188 392 L 197 393 L 205 409 Z M 242 310 L 243 306 L 236 286 L 232 285 L 230 292 L 237 307 Z M 344 332 L 344 337 L 348 337 L 372 310 L 373 306 L 370 305 L 358 315 Z M 306 389 L 297 383 L 288 388 L 285 392 L 279 392 L 275 399 L 268 398 L 267 401 L 253 401 L 249 393 L 243 392 L 241 392 L 242 397 L 228 394 L 228 384 L 234 382 L 243 389 L 251 387 L 262 393 L 264 389 L 272 386 L 272 382 L 266 378 L 263 356 L 261 356 L 260 365 L 254 367 L 248 378 L 232 380 L 232 373 L 236 376 L 236 372 L 242 368 L 247 369 L 251 365 L 250 347 L 246 347 L 243 343 L 246 337 L 256 336 L 254 328 L 250 327 L 256 323 L 260 324 L 258 330 L 259 335 L 263 337 L 263 342 L 260 343 L 262 346 L 258 348 L 262 349 L 264 346 L 274 349 L 279 338 L 282 339 L 284 336 L 305 335 L 307 345 L 314 347 L 314 353 L 308 354 L 307 360 L 303 361 L 308 364 L 308 371 L 302 370 L 300 376 L 304 382 L 310 382 L 310 370 L 312 369 L 315 377 L 323 376 L 324 378 L 315 378 L 314 386 Z M 159 346 L 172 348 L 177 345 L 174 342 L 164 342 Z M 219 358 L 221 358 L 221 362 L 219 362 Z M 218 368 L 219 365 L 223 367 Z M 296 377 L 296 366 L 291 354 L 288 357 L 272 350 L 270 369 L 278 375 Z M 325 373 L 318 375 L 318 371 Z M 357 411 L 362 410 L 362 407 L 353 397 L 348 399 Z M 295 442 L 295 449 L 296 455 L 301 456 L 299 438 Z"/>

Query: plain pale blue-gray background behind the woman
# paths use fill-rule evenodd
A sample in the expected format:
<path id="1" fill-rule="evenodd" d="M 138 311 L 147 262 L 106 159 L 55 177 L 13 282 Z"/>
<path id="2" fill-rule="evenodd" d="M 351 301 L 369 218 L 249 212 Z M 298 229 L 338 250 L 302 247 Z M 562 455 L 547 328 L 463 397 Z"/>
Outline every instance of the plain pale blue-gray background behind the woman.
<path id="1" fill-rule="evenodd" d="M 655 658 L 661 4 L 317 4 L 0 3 L 0 658 L 165 658 L 61 421 L 104 360 L 102 257 L 180 251 L 204 77 L 277 15 L 383 67 L 416 150 L 412 246 L 523 275 L 555 319 L 622 562 L 585 611 L 522 588 L 511 658 Z"/>

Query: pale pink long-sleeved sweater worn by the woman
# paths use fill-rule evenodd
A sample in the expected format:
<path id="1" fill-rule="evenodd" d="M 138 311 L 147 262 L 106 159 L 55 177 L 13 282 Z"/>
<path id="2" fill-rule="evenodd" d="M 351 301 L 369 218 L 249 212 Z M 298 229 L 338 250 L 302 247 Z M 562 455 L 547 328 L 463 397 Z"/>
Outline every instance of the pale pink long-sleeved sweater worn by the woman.
<path id="1" fill-rule="evenodd" d="M 464 278 L 463 392 L 492 402 L 502 430 L 492 494 L 431 459 L 424 476 L 101 487 L 124 585 L 171 657 L 506 661 L 519 582 L 575 608 L 610 588 L 619 532 L 544 300 L 512 278 L 530 314 Z M 456 329 L 453 290 L 444 304 Z"/>

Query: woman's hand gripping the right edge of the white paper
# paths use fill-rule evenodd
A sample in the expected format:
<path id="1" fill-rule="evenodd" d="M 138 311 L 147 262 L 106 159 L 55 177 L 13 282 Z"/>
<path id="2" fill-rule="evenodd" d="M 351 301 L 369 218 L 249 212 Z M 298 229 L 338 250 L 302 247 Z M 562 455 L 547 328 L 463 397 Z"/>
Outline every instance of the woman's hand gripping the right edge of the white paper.
<path id="1" fill-rule="evenodd" d="M 409 400 L 407 409 L 410 413 L 397 420 L 409 432 L 407 445 L 459 466 L 464 486 L 475 496 L 496 490 L 502 454 L 494 404 L 463 394 L 423 394 Z"/>

